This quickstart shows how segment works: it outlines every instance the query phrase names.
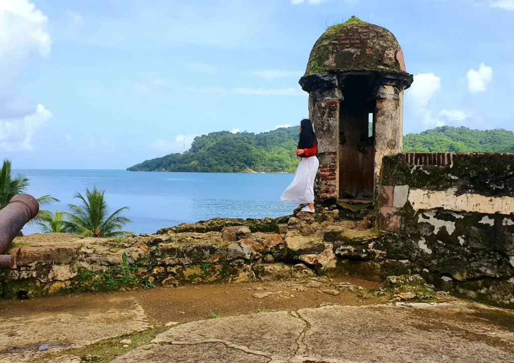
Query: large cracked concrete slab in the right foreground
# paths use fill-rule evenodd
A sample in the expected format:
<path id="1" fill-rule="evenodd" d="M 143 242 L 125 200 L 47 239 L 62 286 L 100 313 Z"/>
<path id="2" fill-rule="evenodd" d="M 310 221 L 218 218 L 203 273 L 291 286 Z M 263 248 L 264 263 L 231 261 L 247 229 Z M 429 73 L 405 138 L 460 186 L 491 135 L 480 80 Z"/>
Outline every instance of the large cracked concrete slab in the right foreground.
<path id="1" fill-rule="evenodd" d="M 113 363 L 506 363 L 513 321 L 468 302 L 327 305 L 179 325 Z"/>

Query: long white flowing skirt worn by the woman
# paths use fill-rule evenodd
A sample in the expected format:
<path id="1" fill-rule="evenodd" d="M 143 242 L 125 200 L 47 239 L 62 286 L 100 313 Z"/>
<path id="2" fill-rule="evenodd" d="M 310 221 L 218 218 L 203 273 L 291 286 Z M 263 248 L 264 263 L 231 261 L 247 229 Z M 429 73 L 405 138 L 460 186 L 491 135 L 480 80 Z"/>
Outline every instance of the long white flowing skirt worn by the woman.
<path id="1" fill-rule="evenodd" d="M 295 178 L 280 196 L 281 201 L 289 204 L 314 203 L 314 179 L 319 166 L 316 156 L 303 157 Z"/>

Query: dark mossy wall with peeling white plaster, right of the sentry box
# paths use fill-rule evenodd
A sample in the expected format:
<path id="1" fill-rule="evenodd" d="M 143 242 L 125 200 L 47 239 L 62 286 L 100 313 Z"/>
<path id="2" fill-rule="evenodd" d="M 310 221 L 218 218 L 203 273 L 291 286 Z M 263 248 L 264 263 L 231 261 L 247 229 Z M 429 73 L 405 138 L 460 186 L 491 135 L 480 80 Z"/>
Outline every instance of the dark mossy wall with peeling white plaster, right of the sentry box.
<path id="1" fill-rule="evenodd" d="M 386 156 L 378 194 L 389 258 L 457 295 L 514 306 L 514 154 Z"/>

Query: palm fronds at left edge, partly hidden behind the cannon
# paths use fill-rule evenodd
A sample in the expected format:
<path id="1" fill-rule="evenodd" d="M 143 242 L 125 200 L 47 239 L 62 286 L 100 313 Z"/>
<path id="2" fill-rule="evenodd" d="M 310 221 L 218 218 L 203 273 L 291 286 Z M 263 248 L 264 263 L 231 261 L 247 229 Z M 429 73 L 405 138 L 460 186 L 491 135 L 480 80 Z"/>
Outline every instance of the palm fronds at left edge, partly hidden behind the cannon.
<path id="1" fill-rule="evenodd" d="M 5 208 L 11 201 L 12 197 L 16 194 L 25 193 L 29 186 L 29 179 L 22 174 L 12 176 L 11 173 L 11 162 L 7 159 L 4 160 L 2 169 L 0 169 L 0 209 Z M 59 199 L 54 198 L 51 195 L 43 195 L 37 198 L 40 205 L 47 205 L 54 202 L 59 203 Z M 47 210 L 40 210 L 38 215 L 29 221 L 28 224 L 36 224 L 42 222 L 41 217 L 43 215 L 51 214 Z"/>

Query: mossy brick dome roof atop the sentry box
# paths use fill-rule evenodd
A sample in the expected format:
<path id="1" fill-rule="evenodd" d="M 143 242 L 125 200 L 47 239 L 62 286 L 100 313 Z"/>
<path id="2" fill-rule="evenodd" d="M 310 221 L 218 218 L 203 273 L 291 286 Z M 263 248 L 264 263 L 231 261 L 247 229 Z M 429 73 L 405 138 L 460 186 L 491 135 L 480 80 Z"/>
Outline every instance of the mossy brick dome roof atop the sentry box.
<path id="1" fill-rule="evenodd" d="M 406 74 L 403 52 L 393 33 L 352 16 L 321 35 L 310 52 L 305 76 L 365 70 Z"/>

